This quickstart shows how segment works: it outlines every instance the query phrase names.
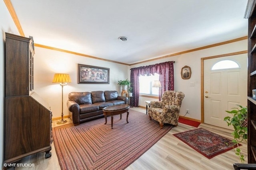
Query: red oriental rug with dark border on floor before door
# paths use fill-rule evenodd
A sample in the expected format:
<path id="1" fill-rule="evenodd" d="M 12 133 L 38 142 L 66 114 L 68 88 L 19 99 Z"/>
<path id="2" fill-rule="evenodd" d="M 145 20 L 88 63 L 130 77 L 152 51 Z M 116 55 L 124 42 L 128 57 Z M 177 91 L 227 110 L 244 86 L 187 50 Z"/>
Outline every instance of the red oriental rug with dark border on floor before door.
<path id="1" fill-rule="evenodd" d="M 177 133 L 174 136 L 208 159 L 236 148 L 231 140 L 202 128 Z"/>

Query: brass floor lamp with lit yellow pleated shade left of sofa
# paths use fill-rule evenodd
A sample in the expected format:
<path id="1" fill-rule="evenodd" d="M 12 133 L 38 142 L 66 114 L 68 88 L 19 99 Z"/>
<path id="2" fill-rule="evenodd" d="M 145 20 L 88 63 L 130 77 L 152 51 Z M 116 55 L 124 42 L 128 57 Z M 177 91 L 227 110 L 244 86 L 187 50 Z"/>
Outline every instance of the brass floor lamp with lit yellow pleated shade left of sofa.
<path id="1" fill-rule="evenodd" d="M 60 83 L 62 87 L 62 112 L 61 112 L 61 120 L 57 122 L 57 124 L 66 123 L 66 120 L 63 120 L 63 86 L 66 86 L 67 83 L 71 83 L 71 79 L 69 74 L 54 74 L 54 78 L 52 80 L 53 83 Z"/>

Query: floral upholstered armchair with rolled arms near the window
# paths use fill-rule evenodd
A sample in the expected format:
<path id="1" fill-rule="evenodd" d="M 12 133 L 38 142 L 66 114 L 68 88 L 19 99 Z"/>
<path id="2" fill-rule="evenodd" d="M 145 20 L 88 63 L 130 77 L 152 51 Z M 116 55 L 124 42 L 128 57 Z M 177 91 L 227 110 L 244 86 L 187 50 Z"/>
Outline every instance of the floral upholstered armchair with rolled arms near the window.
<path id="1" fill-rule="evenodd" d="M 158 121 L 160 129 L 163 129 L 164 123 L 177 126 L 180 106 L 184 97 L 185 95 L 183 92 L 172 90 L 165 91 L 161 101 L 150 102 L 150 107 L 148 109 L 149 119 Z"/>

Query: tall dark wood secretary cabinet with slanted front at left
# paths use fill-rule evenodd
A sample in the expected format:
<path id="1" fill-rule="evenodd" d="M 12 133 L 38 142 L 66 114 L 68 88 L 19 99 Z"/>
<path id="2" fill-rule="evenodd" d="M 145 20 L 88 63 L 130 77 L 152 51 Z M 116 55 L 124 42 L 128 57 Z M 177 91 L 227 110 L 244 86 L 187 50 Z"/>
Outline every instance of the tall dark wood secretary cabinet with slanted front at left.
<path id="1" fill-rule="evenodd" d="M 51 156 L 52 112 L 34 92 L 32 38 L 6 33 L 4 162 L 46 152 Z"/>

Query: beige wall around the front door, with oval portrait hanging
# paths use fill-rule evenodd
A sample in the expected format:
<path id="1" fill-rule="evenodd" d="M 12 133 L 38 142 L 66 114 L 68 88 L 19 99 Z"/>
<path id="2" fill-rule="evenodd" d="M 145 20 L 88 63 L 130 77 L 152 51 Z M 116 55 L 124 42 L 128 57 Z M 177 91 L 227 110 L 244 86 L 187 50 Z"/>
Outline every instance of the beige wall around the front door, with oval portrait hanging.
<path id="1" fill-rule="evenodd" d="M 174 57 L 132 65 L 131 68 L 162 63 L 165 61 L 175 61 L 174 90 L 182 91 L 185 94 L 185 98 L 182 101 L 182 107 L 180 109 L 180 115 L 185 115 L 186 109 L 189 109 L 190 114 L 187 114 L 186 117 L 201 120 L 201 58 L 245 50 L 247 50 L 247 40 L 242 40 L 235 43 L 194 51 Z M 185 65 L 190 66 L 192 71 L 191 78 L 188 80 L 183 80 L 180 75 L 181 68 Z M 194 82 L 195 86 L 189 86 L 190 82 Z M 156 99 L 140 97 L 139 106 L 145 107 L 145 100 Z"/>

